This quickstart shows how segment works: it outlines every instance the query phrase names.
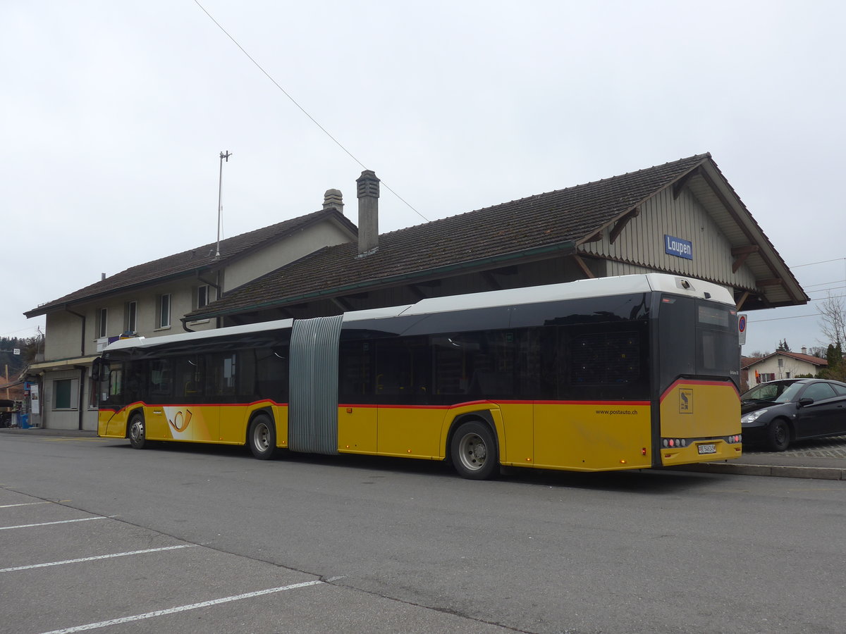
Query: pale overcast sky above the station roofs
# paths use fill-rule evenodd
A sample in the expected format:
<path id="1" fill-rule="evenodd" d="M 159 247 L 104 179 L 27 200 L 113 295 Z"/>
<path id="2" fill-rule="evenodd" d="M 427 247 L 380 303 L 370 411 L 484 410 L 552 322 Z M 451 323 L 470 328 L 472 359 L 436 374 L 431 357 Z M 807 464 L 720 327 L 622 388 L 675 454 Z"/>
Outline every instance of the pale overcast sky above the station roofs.
<path id="1" fill-rule="evenodd" d="M 222 150 L 224 238 L 330 188 L 357 221 L 362 164 L 387 232 L 710 151 L 810 297 L 846 294 L 846 4 L 201 5 L 266 74 L 193 0 L 0 3 L 0 336 L 214 242 Z M 750 313 L 744 353 L 820 345 L 816 305 Z"/>

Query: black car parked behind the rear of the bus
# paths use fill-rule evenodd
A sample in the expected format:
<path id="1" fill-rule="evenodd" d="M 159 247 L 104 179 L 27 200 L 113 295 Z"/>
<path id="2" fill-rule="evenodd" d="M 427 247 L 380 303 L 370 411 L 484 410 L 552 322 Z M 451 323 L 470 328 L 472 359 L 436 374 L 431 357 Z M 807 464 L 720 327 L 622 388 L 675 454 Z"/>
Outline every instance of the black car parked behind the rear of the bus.
<path id="1" fill-rule="evenodd" d="M 784 451 L 794 440 L 846 435 L 846 383 L 785 379 L 740 396 L 743 441 Z"/>

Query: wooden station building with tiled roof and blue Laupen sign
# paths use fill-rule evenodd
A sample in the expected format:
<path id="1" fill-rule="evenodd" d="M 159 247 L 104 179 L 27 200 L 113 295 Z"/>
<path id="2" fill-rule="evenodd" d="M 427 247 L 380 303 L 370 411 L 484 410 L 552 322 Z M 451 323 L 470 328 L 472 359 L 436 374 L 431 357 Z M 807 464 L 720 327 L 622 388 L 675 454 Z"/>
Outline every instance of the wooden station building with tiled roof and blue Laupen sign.
<path id="1" fill-rule="evenodd" d="M 371 181 L 368 209 L 378 197 L 378 179 Z M 384 233 L 366 245 L 327 247 L 187 319 L 313 317 L 645 271 L 725 285 L 743 310 L 808 301 L 711 155 L 702 154 Z"/>

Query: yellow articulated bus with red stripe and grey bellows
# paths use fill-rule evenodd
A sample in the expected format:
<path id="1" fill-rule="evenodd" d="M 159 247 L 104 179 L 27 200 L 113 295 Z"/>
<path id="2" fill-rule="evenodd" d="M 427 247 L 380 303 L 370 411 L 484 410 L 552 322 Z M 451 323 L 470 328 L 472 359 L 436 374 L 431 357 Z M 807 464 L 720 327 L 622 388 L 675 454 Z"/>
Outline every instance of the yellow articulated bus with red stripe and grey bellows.
<path id="1" fill-rule="evenodd" d="M 740 456 L 731 294 L 646 274 L 114 342 L 99 435 L 609 471 Z"/>

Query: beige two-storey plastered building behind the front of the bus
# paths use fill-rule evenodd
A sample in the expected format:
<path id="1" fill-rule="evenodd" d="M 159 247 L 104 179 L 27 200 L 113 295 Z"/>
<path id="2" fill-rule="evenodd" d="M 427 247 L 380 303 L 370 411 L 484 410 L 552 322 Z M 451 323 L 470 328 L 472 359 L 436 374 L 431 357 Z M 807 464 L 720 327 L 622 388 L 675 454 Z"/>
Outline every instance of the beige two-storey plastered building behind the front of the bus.
<path id="1" fill-rule="evenodd" d="M 218 320 L 184 320 L 224 293 L 318 249 L 354 241 L 338 190 L 322 210 L 217 243 L 103 276 L 91 286 L 25 313 L 47 316 L 43 359 L 28 376 L 41 387 L 34 424 L 53 429 L 96 429 L 91 361 L 110 342 L 216 328 Z"/>

